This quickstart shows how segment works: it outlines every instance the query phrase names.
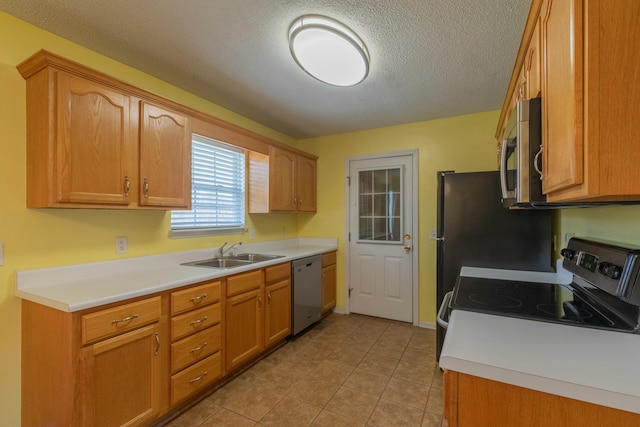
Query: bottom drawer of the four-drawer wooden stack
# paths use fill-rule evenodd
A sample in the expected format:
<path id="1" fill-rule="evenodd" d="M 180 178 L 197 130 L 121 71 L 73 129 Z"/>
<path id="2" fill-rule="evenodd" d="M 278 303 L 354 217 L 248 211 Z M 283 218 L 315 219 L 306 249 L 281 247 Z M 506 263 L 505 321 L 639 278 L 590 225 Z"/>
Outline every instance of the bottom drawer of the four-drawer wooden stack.
<path id="1" fill-rule="evenodd" d="M 171 376 L 171 405 L 204 389 L 220 378 L 222 373 L 220 352 Z"/>

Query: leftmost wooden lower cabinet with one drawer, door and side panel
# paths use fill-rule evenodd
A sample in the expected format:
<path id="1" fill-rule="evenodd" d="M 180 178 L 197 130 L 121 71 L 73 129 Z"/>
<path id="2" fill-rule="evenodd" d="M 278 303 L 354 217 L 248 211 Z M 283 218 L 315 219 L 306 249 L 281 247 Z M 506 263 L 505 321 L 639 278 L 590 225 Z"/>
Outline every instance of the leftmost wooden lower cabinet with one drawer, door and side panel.
<path id="1" fill-rule="evenodd" d="M 161 305 L 151 297 L 68 313 L 24 300 L 22 425 L 138 426 L 157 418 L 167 406 Z"/>

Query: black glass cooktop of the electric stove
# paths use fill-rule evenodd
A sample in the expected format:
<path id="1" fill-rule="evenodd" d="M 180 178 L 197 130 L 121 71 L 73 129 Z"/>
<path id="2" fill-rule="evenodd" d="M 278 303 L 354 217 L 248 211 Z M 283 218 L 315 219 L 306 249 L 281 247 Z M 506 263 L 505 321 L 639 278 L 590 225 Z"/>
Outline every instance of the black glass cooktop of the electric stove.
<path id="1" fill-rule="evenodd" d="M 630 329 L 570 285 L 459 277 L 452 309 L 607 329 Z"/>

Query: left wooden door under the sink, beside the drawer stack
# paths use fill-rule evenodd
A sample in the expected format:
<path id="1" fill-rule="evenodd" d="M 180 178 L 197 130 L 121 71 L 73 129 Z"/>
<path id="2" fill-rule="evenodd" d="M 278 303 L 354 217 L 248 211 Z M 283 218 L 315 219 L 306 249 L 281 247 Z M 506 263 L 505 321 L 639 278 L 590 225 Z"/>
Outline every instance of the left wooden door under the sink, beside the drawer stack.
<path id="1" fill-rule="evenodd" d="M 226 372 L 260 354 L 264 342 L 263 288 L 241 293 L 226 301 Z"/>

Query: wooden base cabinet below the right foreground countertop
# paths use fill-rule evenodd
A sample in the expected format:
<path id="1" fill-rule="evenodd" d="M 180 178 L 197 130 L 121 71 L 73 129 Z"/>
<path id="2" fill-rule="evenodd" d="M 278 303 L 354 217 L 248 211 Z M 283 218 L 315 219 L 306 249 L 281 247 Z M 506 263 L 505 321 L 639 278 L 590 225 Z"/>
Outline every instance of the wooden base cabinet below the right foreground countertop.
<path id="1" fill-rule="evenodd" d="M 446 427 L 620 427 L 640 414 L 454 371 L 444 373 Z"/>

